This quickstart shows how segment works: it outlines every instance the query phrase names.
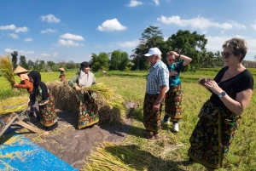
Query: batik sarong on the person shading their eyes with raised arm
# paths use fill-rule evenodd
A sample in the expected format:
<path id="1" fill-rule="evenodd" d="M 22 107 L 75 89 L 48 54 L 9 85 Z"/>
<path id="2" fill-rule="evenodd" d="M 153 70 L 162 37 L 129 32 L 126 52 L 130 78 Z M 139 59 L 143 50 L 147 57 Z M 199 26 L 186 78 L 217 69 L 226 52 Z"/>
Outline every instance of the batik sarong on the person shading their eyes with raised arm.
<path id="1" fill-rule="evenodd" d="M 165 99 L 165 111 L 171 117 L 170 121 L 178 121 L 183 117 L 182 101 L 181 85 L 170 87 Z"/>

